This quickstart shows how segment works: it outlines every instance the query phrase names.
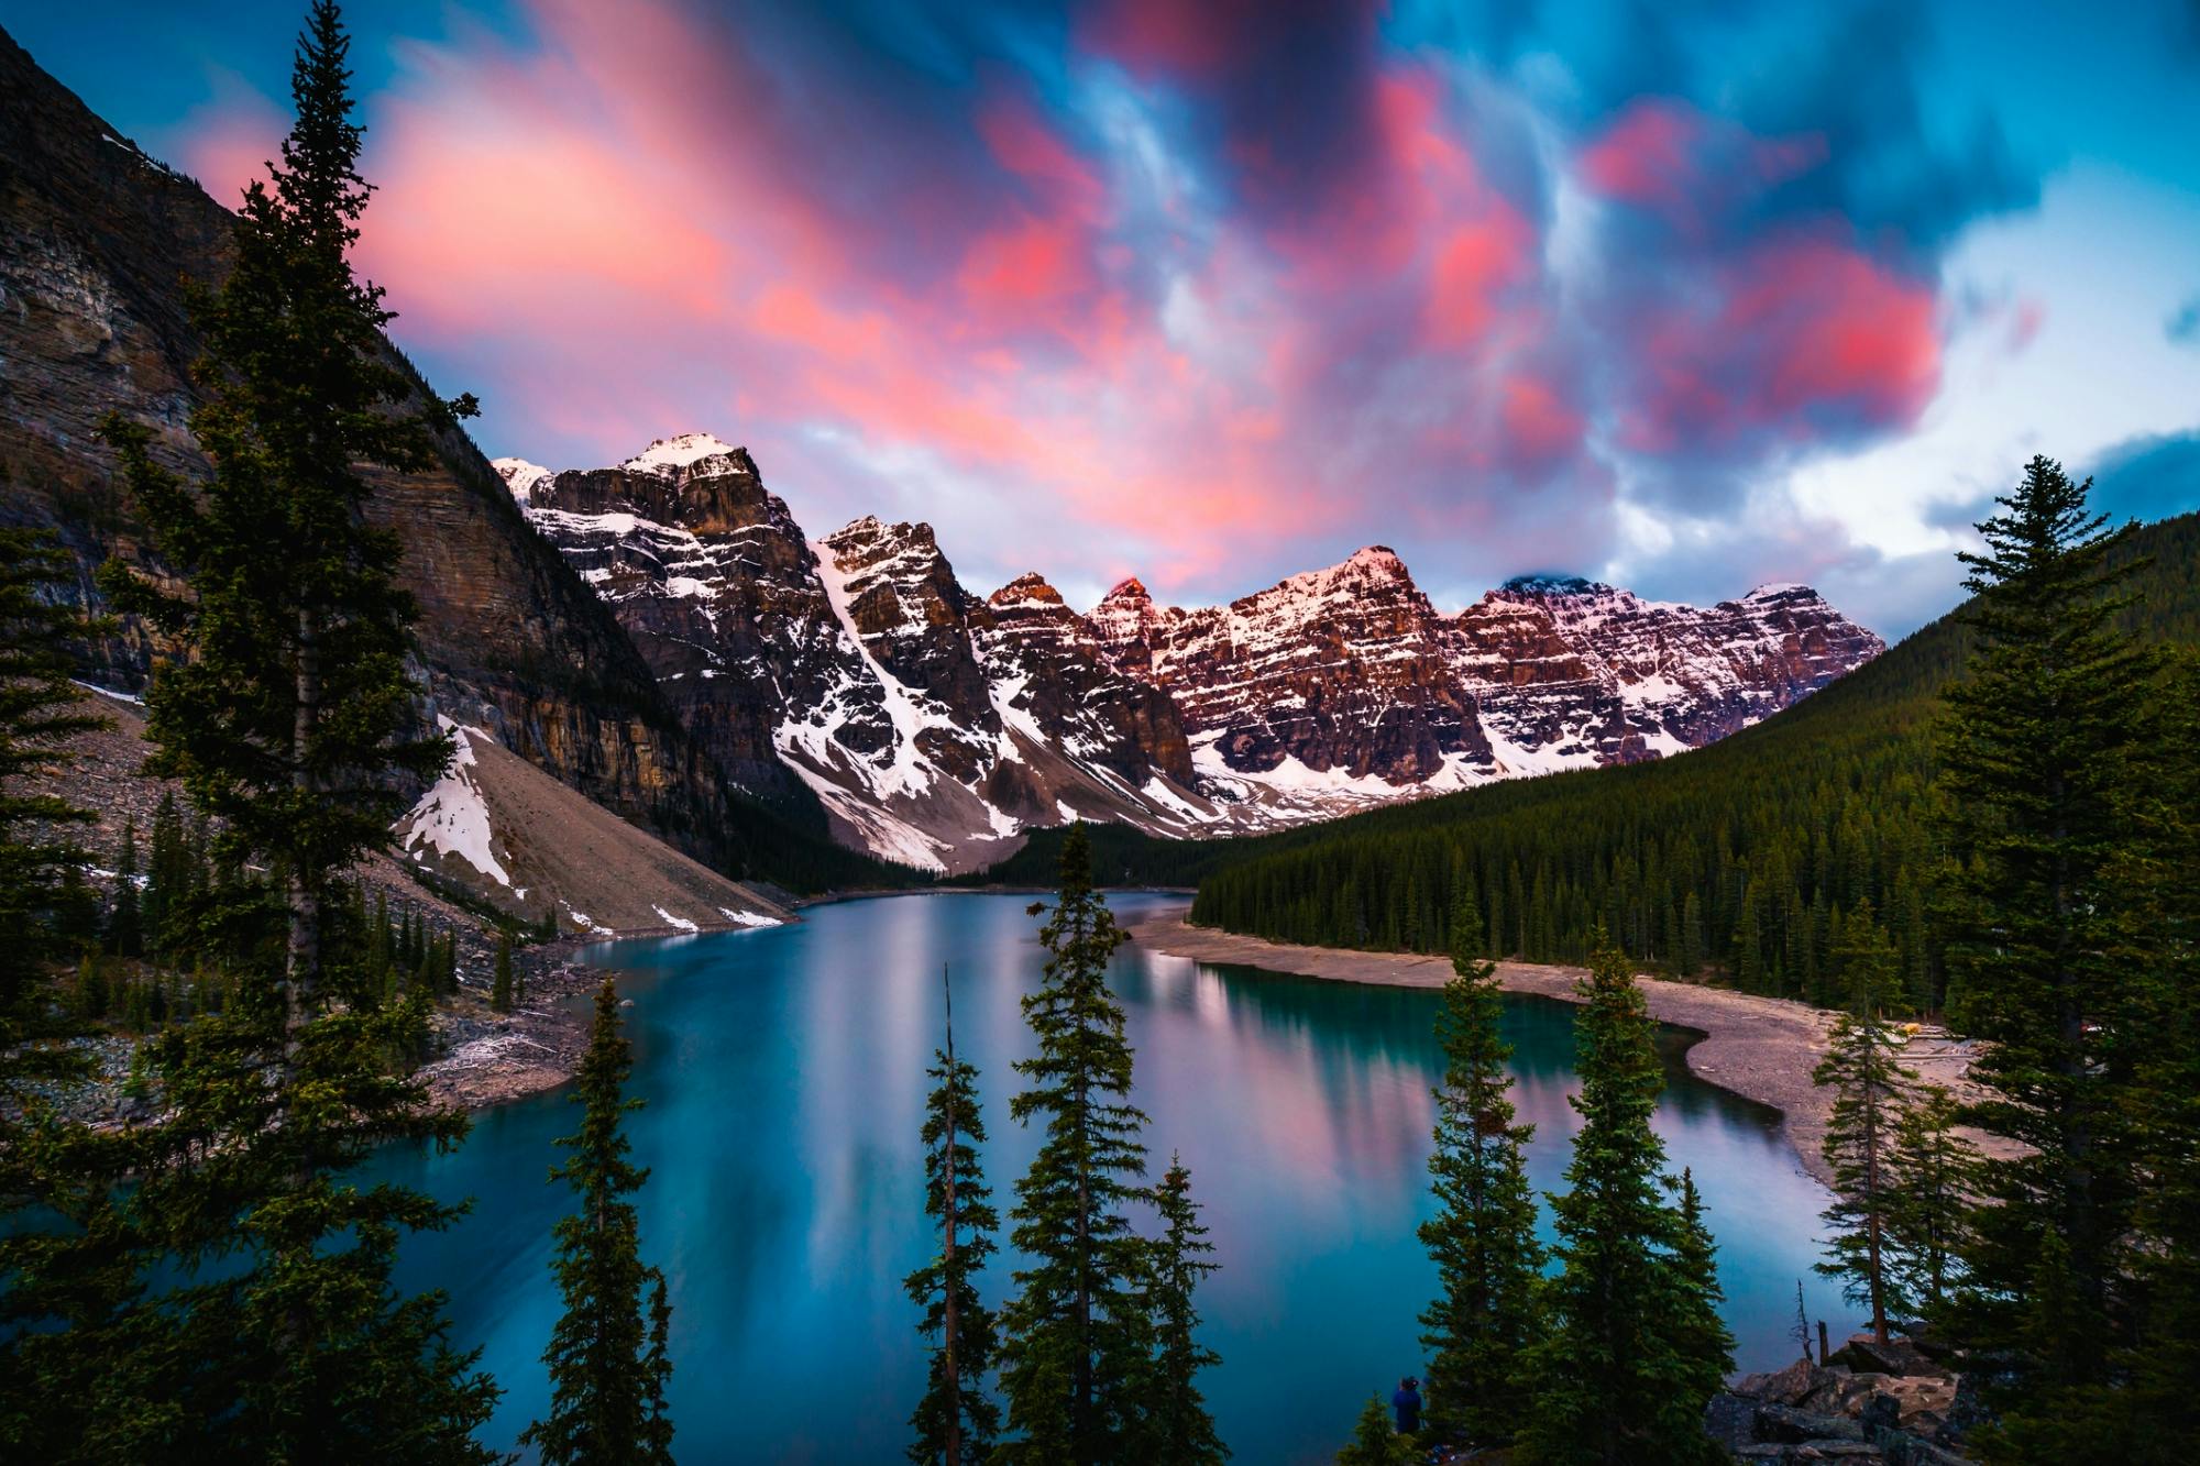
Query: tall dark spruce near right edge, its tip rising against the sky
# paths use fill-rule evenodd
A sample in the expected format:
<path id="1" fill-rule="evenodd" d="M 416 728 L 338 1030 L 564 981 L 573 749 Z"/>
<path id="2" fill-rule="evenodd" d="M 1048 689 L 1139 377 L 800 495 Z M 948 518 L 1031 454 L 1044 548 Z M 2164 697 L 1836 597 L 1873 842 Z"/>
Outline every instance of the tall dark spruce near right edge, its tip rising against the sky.
<path id="1" fill-rule="evenodd" d="M 2006 1360 L 2004 1451 L 2094 1451 L 2127 1297 L 2138 1156 L 2134 1019 L 2149 962 L 2119 949 L 2141 834 L 2134 799 L 2163 748 L 2156 654 L 2116 625 L 2130 572 L 2088 506 L 2092 480 L 2033 458 L 1962 555 L 1978 634 L 1940 729 L 1949 997 L 1984 1039 L 1971 1116 L 2017 1140 L 1980 1164 L 1960 1338 Z M 2138 958 L 2138 960 L 2134 960 Z"/>

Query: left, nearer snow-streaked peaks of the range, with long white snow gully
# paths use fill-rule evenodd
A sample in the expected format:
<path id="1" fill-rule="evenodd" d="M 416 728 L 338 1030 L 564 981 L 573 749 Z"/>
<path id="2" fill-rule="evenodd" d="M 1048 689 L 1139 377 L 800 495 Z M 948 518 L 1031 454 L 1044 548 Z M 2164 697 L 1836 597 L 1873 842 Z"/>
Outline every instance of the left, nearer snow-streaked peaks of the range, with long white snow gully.
<path id="1" fill-rule="evenodd" d="M 1107 667 L 1052 590 L 968 592 L 926 524 L 862 517 L 810 541 L 708 434 L 616 469 L 497 471 L 693 737 L 757 792 L 810 790 L 851 845 L 966 869 L 1030 825 L 1214 817 L 1173 702 Z"/>

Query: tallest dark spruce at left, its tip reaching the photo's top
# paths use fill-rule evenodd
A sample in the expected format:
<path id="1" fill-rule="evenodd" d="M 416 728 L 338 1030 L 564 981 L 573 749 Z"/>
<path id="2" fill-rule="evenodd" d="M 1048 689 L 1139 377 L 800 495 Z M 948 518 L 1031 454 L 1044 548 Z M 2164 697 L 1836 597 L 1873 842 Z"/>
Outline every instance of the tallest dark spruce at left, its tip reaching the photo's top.
<path id="1" fill-rule="evenodd" d="M 383 291 L 352 275 L 370 189 L 348 53 L 334 2 L 315 0 L 282 163 L 244 194 L 227 284 L 191 299 L 207 348 L 191 434 L 211 475 L 185 482 L 154 462 L 150 429 L 106 420 L 156 548 L 189 583 L 172 594 L 121 559 L 101 566 L 114 603 L 185 652 L 145 700 L 147 770 L 220 821 L 220 856 L 282 872 L 286 1059 L 319 1015 L 334 883 L 398 810 L 387 775 L 449 757 L 449 740 L 409 735 L 414 603 L 398 537 L 365 519 L 361 469 L 431 467 L 451 409 L 414 403 L 381 337 Z"/>

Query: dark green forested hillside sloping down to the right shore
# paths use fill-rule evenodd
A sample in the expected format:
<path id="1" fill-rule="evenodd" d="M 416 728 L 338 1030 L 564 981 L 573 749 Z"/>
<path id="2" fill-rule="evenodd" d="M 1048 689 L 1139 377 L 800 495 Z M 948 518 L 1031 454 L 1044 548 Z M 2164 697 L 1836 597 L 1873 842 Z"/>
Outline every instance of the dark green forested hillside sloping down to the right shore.
<path id="1" fill-rule="evenodd" d="M 2200 643 L 2200 515 L 2121 546 L 2149 564 L 2127 623 Z M 1452 891 L 1472 885 L 1494 949 L 1580 962 L 1602 918 L 1630 955 L 1738 986 L 1824 999 L 1844 913 L 1888 922 L 1918 1006 L 1940 975 L 1927 900 L 1938 852 L 1923 819 L 1938 691 L 1962 667 L 1954 616 L 1826 691 L 1712 748 L 1375 810 L 1267 839 L 1096 841 L 1102 878 L 1199 883 L 1192 918 L 1322 947 L 1443 951 Z M 992 878 L 1045 858 L 1027 847 Z"/>

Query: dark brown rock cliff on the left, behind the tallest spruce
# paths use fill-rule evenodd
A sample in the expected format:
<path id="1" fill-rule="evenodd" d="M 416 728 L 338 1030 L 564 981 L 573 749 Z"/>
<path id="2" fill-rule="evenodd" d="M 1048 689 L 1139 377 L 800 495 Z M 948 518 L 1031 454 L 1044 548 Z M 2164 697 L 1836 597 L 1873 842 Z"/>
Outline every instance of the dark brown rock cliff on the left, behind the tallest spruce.
<path id="1" fill-rule="evenodd" d="M 156 453 L 202 473 L 185 427 L 198 339 L 183 280 L 229 269 L 231 216 L 114 134 L 0 33 L 0 522 L 55 528 L 84 601 L 108 555 L 145 564 L 141 528 L 97 440 L 119 409 Z M 717 770 L 697 757 L 607 608 L 541 544 L 462 434 L 431 473 L 383 475 L 370 513 L 405 530 L 420 603 L 427 713 L 506 746 L 620 814 L 711 854 Z M 150 566 L 158 570 L 158 566 Z M 154 647 L 123 623 L 86 676 L 143 687 Z"/>

